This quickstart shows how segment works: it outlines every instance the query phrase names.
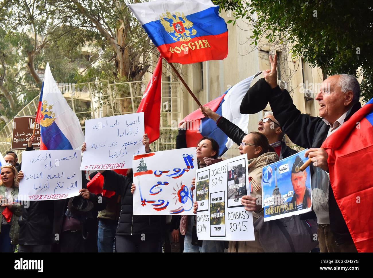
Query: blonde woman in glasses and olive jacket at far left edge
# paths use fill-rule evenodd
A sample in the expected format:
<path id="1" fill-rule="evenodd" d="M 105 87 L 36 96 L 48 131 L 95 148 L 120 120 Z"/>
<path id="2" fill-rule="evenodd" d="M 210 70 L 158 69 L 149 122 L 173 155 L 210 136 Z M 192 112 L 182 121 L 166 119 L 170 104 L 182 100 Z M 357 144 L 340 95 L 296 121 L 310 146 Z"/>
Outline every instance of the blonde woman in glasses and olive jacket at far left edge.
<path id="1" fill-rule="evenodd" d="M 13 252 L 18 243 L 21 204 L 17 203 L 19 180 L 22 171 L 17 172 L 12 164 L 1 167 L 0 180 L 0 252 Z M 13 245 L 13 246 L 12 246 Z"/>

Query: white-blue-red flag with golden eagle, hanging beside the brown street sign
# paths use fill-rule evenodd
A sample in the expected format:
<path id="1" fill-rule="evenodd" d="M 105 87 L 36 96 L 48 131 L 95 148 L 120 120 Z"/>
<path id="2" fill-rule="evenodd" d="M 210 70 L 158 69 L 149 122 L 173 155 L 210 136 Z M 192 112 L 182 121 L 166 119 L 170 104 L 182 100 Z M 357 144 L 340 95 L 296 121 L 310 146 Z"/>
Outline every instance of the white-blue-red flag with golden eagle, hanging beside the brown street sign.
<path id="1" fill-rule="evenodd" d="M 78 117 L 58 88 L 49 63 L 44 73 L 36 121 L 40 124 L 40 149 L 76 149 L 84 142 Z"/>

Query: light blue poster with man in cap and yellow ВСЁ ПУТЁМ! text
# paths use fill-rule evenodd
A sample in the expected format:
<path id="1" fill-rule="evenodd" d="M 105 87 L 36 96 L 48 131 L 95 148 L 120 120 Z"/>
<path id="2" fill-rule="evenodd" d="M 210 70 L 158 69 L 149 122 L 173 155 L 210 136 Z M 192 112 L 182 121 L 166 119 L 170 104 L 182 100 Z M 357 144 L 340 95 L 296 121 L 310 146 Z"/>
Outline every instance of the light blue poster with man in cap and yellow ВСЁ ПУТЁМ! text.
<path id="1" fill-rule="evenodd" d="M 311 211 L 310 167 L 300 170 L 308 160 L 304 157 L 306 151 L 307 149 L 263 168 L 261 184 L 264 221 Z"/>

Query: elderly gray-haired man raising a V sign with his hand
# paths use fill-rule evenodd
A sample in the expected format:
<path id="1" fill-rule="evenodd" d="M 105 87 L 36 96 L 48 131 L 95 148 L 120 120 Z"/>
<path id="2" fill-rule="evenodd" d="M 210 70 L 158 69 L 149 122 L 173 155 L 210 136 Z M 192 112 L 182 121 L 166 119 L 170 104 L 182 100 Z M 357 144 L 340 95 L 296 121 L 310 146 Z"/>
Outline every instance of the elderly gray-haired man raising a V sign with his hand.
<path id="1" fill-rule="evenodd" d="M 264 70 L 264 79 L 257 82 L 256 88 L 253 86 L 249 89 L 241 102 L 241 113 L 248 114 L 248 100 L 251 100 L 250 105 L 253 105 L 255 99 L 257 109 L 264 108 L 269 102 L 274 116 L 290 140 L 303 148 L 308 148 L 305 157 L 313 161 L 313 211 L 301 217 L 317 217 L 320 252 L 357 252 L 330 186 L 328 155 L 320 146 L 330 134 L 361 108 L 360 85 L 351 75 L 333 75 L 325 79 L 315 98 L 319 101 L 320 117 L 311 117 L 301 114 L 289 93 L 286 90 L 281 91 L 277 85 L 277 55 L 274 59 L 272 56 L 269 58 L 271 69 Z"/>

